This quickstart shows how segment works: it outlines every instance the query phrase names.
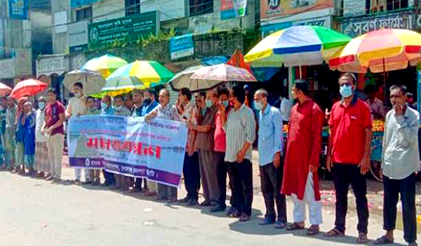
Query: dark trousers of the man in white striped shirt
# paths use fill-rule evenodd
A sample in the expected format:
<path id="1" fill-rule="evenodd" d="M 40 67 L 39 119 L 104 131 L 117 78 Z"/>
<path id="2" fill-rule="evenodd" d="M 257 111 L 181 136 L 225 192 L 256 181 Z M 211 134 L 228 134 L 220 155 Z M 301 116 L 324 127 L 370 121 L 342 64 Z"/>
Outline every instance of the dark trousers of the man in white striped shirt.
<path id="1" fill-rule="evenodd" d="M 250 160 L 232 162 L 233 207 L 241 213 L 251 215 L 253 202 L 253 174 Z"/>

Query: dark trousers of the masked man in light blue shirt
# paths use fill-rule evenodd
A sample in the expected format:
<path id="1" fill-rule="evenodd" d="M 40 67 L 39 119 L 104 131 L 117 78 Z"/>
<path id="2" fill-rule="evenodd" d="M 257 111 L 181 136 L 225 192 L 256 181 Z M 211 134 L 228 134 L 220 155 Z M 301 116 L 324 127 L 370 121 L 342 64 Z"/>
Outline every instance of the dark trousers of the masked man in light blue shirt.
<path id="1" fill-rule="evenodd" d="M 273 163 L 260 166 L 260 184 L 266 206 L 265 218 L 286 223 L 286 198 L 281 194 L 282 178 L 282 167 L 276 168 Z"/>

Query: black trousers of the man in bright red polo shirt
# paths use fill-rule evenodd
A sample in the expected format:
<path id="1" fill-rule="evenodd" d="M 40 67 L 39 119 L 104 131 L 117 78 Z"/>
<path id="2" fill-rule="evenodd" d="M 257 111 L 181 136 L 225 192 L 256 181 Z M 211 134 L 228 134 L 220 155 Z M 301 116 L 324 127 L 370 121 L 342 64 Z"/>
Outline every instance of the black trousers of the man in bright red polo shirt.
<path id="1" fill-rule="evenodd" d="M 333 182 L 336 190 L 335 228 L 342 233 L 345 233 L 349 184 L 354 190 L 356 200 L 357 230 L 360 233 L 368 233 L 367 181 L 360 170 L 356 164 L 333 164 Z"/>

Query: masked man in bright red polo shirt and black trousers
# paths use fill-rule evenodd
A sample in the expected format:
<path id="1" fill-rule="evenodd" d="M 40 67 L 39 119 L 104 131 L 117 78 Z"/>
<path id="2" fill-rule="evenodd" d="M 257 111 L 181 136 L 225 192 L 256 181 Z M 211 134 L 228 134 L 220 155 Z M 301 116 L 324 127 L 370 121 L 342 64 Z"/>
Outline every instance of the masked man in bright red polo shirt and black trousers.
<path id="1" fill-rule="evenodd" d="M 330 138 L 326 168 L 333 168 L 336 190 L 335 228 L 327 236 L 345 235 L 348 189 L 352 185 L 359 223 L 357 243 L 368 242 L 367 183 L 364 176 L 370 170 L 371 114 L 368 105 L 354 96 L 356 78 L 345 73 L 339 78 L 342 100 L 330 112 Z"/>

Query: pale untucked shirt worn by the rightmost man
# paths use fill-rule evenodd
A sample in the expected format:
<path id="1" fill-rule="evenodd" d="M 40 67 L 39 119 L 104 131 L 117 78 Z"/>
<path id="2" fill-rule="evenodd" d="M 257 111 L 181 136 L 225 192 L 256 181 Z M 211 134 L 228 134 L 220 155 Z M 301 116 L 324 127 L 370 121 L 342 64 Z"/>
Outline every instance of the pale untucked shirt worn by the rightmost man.
<path id="1" fill-rule="evenodd" d="M 386 115 L 383 138 L 382 169 L 389 179 L 405 179 L 420 171 L 418 152 L 418 129 L 420 115 L 406 107 L 404 115 L 390 110 Z"/>

